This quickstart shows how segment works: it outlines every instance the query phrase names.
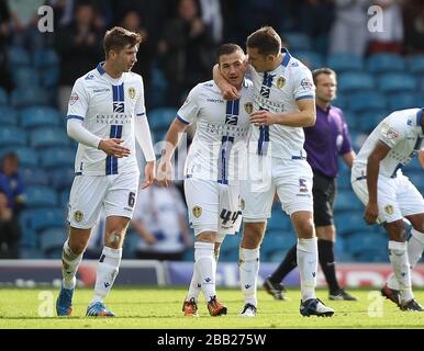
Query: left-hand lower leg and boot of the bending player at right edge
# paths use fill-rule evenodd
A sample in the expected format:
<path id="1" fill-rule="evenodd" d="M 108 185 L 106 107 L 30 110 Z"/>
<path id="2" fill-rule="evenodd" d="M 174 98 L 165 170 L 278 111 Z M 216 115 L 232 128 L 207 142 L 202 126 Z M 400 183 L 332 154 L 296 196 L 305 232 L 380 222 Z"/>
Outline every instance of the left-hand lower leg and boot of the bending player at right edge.
<path id="1" fill-rule="evenodd" d="M 412 218 L 414 224 L 420 227 L 419 217 Z M 393 267 L 394 278 L 399 284 L 399 299 L 395 298 L 398 294 L 394 294 L 395 290 L 390 288 L 384 285 L 381 290 L 381 293 L 387 298 L 390 298 L 399 305 L 402 310 L 419 310 L 422 312 L 423 308 L 415 302 L 414 295 L 412 293 L 411 284 L 411 267 L 409 260 L 409 248 L 405 242 L 405 227 L 403 219 L 394 220 L 384 225 L 386 230 L 389 234 L 389 257 Z M 413 238 L 411 245 L 416 245 L 416 238 Z M 421 251 L 422 252 L 422 251 Z M 416 250 L 414 250 L 415 257 L 413 260 L 420 259 L 416 258 Z"/>

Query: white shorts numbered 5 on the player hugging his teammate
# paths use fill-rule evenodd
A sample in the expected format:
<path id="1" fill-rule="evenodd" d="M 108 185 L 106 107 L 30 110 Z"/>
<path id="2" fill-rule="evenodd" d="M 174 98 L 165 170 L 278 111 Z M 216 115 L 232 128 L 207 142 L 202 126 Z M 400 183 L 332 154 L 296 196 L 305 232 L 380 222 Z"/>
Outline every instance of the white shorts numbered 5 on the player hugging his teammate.
<path id="1" fill-rule="evenodd" d="M 265 222 L 269 218 L 276 191 L 282 211 L 289 216 L 298 211 L 313 213 L 312 180 L 312 169 L 305 159 L 249 154 L 247 181 L 242 183 L 242 197 L 246 202 L 243 220 Z"/>

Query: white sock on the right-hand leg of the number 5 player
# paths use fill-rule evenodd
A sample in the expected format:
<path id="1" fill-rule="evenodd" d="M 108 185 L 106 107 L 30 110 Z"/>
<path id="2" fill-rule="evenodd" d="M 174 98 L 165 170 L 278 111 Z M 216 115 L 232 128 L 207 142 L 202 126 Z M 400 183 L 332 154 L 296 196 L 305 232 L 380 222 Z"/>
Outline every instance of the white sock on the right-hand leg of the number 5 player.
<path id="1" fill-rule="evenodd" d="M 317 239 L 298 239 L 298 267 L 302 301 L 315 298 L 317 270 Z"/>

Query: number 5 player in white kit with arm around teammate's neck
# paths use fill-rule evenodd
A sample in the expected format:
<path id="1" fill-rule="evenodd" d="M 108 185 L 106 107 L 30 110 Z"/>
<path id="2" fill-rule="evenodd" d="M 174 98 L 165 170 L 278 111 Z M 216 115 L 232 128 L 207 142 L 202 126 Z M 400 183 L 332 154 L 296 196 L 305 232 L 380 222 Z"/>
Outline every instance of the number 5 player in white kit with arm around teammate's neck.
<path id="1" fill-rule="evenodd" d="M 241 315 L 257 310 L 259 246 L 277 191 L 282 210 L 298 234 L 297 259 L 301 278 L 303 316 L 332 316 L 334 310 L 315 297 L 317 241 L 313 224 L 312 170 L 303 149 L 303 128 L 315 123 L 315 87 L 311 71 L 287 49 L 281 38 L 266 26 L 247 38 L 248 63 L 254 83 L 254 125 L 248 141 L 249 181 L 243 189 L 246 208 L 239 248 L 241 285 L 245 306 Z M 214 68 L 223 95 L 237 92 Z"/>

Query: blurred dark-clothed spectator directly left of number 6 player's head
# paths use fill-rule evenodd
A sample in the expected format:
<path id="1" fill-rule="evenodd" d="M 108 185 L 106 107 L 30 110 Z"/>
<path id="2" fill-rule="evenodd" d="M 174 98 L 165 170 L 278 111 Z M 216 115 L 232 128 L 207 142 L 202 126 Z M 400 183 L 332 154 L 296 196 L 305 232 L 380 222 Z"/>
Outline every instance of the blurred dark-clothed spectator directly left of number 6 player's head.
<path id="1" fill-rule="evenodd" d="M 96 68 L 103 57 L 101 46 L 104 35 L 99 27 L 96 9 L 90 2 L 79 2 L 75 9 L 75 21 L 57 32 L 56 47 L 60 57 L 60 87 L 58 105 L 66 112 L 74 81 Z"/>

